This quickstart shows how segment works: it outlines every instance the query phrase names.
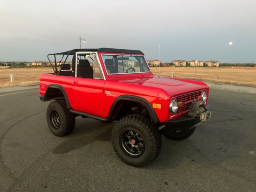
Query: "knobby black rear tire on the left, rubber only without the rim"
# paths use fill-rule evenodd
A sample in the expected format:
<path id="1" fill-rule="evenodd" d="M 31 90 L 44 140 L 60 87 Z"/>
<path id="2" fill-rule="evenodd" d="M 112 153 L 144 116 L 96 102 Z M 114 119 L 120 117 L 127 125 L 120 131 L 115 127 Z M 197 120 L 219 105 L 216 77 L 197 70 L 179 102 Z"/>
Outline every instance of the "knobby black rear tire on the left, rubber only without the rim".
<path id="1" fill-rule="evenodd" d="M 56 128 L 54 126 L 54 122 L 52 122 L 53 112 L 57 112 L 59 114 L 59 128 Z M 74 130 L 76 123 L 74 114 L 69 112 L 64 100 L 55 100 L 48 105 L 46 119 L 50 131 L 58 137 L 70 134 Z"/>

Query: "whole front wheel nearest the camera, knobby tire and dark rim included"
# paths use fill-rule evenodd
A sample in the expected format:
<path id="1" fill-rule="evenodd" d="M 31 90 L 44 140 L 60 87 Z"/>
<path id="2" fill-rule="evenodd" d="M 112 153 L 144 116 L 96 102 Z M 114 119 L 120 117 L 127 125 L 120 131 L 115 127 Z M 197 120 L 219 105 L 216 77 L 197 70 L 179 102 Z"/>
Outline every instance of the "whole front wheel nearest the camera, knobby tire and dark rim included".
<path id="1" fill-rule="evenodd" d="M 136 114 L 125 116 L 116 123 L 111 140 L 117 156 L 135 167 L 150 164 L 162 146 L 161 135 L 154 123 Z"/>

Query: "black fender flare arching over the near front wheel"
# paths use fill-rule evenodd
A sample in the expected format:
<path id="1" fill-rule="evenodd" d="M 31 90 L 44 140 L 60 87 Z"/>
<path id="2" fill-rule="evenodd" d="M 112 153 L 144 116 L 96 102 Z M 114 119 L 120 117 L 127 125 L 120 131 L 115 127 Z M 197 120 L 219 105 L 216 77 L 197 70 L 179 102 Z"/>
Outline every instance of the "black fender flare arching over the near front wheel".
<path id="1" fill-rule="evenodd" d="M 150 116 L 150 118 L 155 122 L 160 122 L 159 119 L 158 119 L 158 116 L 156 115 L 156 112 L 154 111 L 153 107 L 151 106 L 150 102 L 148 102 L 148 100 L 142 98 L 142 97 L 139 97 L 139 96 L 133 96 L 133 95 L 121 95 L 119 96 L 118 98 L 116 98 L 114 100 L 114 102 L 112 103 L 112 106 L 108 112 L 108 120 L 110 120 L 111 118 L 111 114 L 117 104 L 117 102 L 121 101 L 121 100 L 126 100 L 126 101 L 133 101 L 133 102 L 137 102 L 137 103 L 140 103 L 142 104 L 146 110 L 148 111 L 148 114 Z"/>

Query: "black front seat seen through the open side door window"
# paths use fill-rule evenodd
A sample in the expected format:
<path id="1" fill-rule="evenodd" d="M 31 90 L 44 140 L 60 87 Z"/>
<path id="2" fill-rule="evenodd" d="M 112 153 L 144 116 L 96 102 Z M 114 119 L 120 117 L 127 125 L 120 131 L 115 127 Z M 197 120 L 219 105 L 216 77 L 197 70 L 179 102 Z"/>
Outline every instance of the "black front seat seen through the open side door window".
<path id="1" fill-rule="evenodd" d="M 80 59 L 77 65 L 77 76 L 82 78 L 93 78 L 93 68 L 88 60 Z"/>

